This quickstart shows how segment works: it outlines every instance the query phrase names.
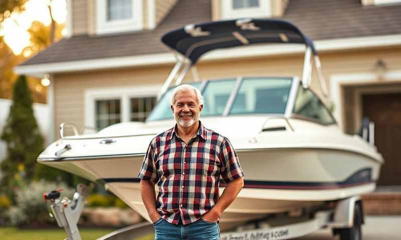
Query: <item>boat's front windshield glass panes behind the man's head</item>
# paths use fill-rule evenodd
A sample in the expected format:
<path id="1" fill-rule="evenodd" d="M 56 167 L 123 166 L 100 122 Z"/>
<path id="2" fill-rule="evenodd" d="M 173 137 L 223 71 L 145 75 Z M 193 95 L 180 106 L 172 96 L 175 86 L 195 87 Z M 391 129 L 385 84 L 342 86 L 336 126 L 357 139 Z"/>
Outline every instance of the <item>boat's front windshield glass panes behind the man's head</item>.
<path id="1" fill-rule="evenodd" d="M 236 87 L 237 83 L 237 78 L 227 78 L 207 81 L 205 86 L 202 82 L 188 84 L 198 88 L 205 98 L 204 108 L 200 113 L 202 116 L 221 116 L 227 107 L 231 109 L 229 114 L 284 114 L 292 78 L 244 77 L 239 88 Z M 173 118 L 170 109 L 173 89 L 169 88 L 164 93 L 147 121 Z"/>

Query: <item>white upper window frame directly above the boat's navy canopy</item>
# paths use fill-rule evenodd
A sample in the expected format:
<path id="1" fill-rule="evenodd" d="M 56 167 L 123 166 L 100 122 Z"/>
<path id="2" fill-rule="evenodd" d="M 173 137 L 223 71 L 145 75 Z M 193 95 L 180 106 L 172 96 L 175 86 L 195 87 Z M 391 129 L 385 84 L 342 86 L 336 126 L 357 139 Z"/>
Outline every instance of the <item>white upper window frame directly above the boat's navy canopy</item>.
<path id="1" fill-rule="evenodd" d="M 240 17 L 271 17 L 271 0 L 259 0 L 259 7 L 233 8 L 233 0 L 222 0 L 222 19 L 235 19 Z"/>

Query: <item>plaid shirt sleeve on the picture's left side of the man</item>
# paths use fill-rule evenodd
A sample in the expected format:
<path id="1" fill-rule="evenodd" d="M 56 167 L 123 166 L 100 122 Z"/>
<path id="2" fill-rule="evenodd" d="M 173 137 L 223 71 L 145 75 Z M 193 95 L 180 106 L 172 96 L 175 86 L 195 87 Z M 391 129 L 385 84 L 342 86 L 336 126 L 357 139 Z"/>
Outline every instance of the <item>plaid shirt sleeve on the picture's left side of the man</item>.
<path id="1" fill-rule="evenodd" d="M 138 178 L 143 180 L 150 180 L 157 182 L 157 168 L 155 165 L 156 154 L 153 146 L 153 140 L 150 142 L 147 148 L 145 157 L 143 158 L 142 167 L 139 171 Z"/>

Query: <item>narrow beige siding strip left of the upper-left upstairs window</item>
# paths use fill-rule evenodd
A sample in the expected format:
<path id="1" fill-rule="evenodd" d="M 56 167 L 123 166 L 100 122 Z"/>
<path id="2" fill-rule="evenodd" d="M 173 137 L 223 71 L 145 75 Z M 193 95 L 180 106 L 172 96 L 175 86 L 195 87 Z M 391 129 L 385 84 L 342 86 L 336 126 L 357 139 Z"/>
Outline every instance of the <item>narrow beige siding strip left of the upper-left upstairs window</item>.
<path id="1" fill-rule="evenodd" d="M 72 35 L 88 33 L 88 1 L 72 1 Z"/>

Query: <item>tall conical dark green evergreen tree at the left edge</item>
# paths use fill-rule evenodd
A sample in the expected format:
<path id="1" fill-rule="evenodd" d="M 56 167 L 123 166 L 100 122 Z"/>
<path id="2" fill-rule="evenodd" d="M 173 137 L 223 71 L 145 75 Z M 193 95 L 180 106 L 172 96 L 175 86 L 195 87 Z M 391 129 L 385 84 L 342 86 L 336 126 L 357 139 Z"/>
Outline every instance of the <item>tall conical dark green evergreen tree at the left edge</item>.
<path id="1" fill-rule="evenodd" d="M 19 76 L 14 84 L 13 103 L 1 139 L 7 144 L 7 156 L 0 165 L 3 171 L 1 185 L 10 191 L 18 186 L 18 182 L 33 178 L 36 158 L 44 144 L 25 75 Z"/>

